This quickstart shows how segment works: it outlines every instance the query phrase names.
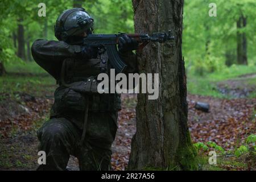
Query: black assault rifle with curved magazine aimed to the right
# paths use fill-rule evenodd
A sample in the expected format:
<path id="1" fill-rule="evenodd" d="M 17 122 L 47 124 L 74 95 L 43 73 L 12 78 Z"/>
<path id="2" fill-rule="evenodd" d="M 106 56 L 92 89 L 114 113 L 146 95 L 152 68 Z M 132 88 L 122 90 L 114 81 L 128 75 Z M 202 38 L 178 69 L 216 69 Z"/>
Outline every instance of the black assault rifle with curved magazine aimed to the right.
<path id="1" fill-rule="evenodd" d="M 123 63 L 121 57 L 118 55 L 117 44 L 120 36 L 127 35 L 134 38 L 139 43 L 138 51 L 141 51 L 149 42 L 163 43 L 167 40 L 174 40 L 174 36 L 171 35 L 171 31 L 153 33 L 151 36 L 148 34 L 90 34 L 83 40 L 84 44 L 94 44 L 99 46 L 105 46 L 109 56 L 110 64 L 115 68 L 118 73 L 123 72 L 126 68 L 126 64 Z"/>

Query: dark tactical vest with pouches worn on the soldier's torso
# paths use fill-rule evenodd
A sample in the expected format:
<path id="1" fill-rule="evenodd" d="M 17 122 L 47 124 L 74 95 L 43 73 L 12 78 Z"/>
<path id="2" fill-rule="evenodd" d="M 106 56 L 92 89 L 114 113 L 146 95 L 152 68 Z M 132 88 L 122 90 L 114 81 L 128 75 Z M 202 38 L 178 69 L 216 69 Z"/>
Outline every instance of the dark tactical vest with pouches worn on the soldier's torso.
<path id="1" fill-rule="evenodd" d="M 109 74 L 110 68 L 106 51 L 98 55 L 97 59 L 65 59 L 61 70 L 61 79 L 57 81 L 60 86 L 54 94 L 55 102 L 51 109 L 51 117 L 72 111 L 84 111 L 86 102 L 88 102 L 89 111 L 121 110 L 119 94 L 99 94 L 95 90 L 98 74 Z"/>

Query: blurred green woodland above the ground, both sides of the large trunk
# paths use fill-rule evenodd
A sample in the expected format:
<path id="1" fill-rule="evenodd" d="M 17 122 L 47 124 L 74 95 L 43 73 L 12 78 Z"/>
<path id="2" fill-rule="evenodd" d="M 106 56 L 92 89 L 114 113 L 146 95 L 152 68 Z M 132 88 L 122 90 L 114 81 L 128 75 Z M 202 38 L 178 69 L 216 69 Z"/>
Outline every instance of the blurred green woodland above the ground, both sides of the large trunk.
<path id="1" fill-rule="evenodd" d="M 42 1 L 1 1 L 1 52 L 4 65 L 32 61 L 35 39 L 56 40 L 57 16 L 65 9 L 84 7 L 95 20 L 95 33 L 134 32 L 131 1 L 46 1 L 46 17 L 39 17 Z M 217 16 L 210 17 L 209 4 L 216 3 Z M 203 76 L 234 65 L 256 64 L 256 2 L 253 0 L 185 1 L 183 55 L 187 71 Z M 18 59 L 19 57 L 20 59 Z"/>

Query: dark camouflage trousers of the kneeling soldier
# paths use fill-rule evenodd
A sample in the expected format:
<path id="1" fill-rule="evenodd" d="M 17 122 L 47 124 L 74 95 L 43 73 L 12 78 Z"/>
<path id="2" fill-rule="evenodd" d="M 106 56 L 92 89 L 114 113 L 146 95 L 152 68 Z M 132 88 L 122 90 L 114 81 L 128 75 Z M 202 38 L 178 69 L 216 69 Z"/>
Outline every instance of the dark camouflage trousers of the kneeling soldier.
<path id="1" fill-rule="evenodd" d="M 80 170 L 109 170 L 111 146 L 117 131 L 116 112 L 89 112 L 86 135 L 66 118 L 49 119 L 38 130 L 39 151 L 46 152 L 46 164 L 38 170 L 66 170 L 69 156 L 79 160 Z"/>

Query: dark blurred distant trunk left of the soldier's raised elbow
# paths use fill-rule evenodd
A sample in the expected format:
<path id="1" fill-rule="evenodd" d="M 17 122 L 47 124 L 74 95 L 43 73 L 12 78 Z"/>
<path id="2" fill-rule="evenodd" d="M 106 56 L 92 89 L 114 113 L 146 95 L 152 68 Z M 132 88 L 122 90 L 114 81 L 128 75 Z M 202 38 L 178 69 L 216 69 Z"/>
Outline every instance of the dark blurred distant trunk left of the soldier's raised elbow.
<path id="1" fill-rule="evenodd" d="M 24 40 L 24 26 L 22 24 L 23 20 L 20 18 L 18 20 L 18 57 L 25 60 L 25 40 Z"/>

